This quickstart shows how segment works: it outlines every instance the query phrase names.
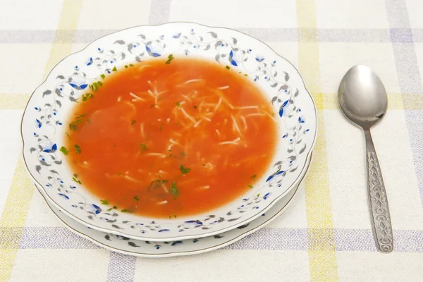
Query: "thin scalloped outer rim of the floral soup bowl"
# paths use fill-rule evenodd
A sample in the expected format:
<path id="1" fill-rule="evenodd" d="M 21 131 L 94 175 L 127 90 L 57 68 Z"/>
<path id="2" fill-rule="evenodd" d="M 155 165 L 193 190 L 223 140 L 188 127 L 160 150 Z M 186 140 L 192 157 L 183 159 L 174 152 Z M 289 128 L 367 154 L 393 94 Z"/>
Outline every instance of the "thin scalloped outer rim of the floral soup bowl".
<path id="1" fill-rule="evenodd" d="M 63 207 L 61 207 L 58 203 L 56 203 L 47 193 L 47 191 L 45 190 L 44 186 L 39 183 L 34 176 L 32 176 L 32 173 L 30 172 L 30 168 L 28 167 L 27 161 L 25 159 L 25 140 L 23 137 L 23 121 L 25 118 L 25 114 L 27 113 L 27 107 L 32 99 L 32 97 L 34 96 L 35 92 L 37 92 L 37 90 L 39 89 L 39 87 L 42 87 L 42 85 L 44 85 L 45 82 L 47 82 L 47 80 L 49 79 L 51 73 L 54 71 L 54 69 L 59 66 L 59 64 L 66 60 L 68 57 L 73 56 L 75 54 L 81 53 L 82 51 L 85 51 L 85 49 L 89 48 L 92 44 L 94 44 L 95 42 L 97 42 L 97 40 L 102 39 L 104 37 L 108 37 L 110 35 L 114 35 L 118 32 L 122 32 L 124 30 L 131 30 L 137 27 L 159 27 L 159 26 L 164 26 L 164 25 L 173 25 L 173 24 L 188 24 L 188 25 L 198 25 L 201 27 L 208 27 L 208 28 L 212 28 L 212 29 L 222 29 L 222 30 L 228 30 L 231 32 L 238 32 L 242 35 L 244 35 L 245 37 L 248 37 L 249 39 L 252 40 L 257 40 L 258 42 L 260 42 L 261 44 L 263 44 L 265 47 L 269 48 L 269 50 L 271 50 L 276 57 L 279 57 L 281 59 L 283 59 L 284 61 L 286 61 L 287 63 L 290 64 L 290 66 L 293 67 L 293 69 L 297 72 L 297 74 L 299 75 L 299 77 L 301 78 L 302 81 L 302 86 L 304 87 L 305 92 L 307 92 L 307 94 L 309 95 L 309 99 L 311 99 L 312 101 L 312 105 L 313 105 L 313 109 L 314 109 L 314 118 L 315 118 L 315 128 L 314 128 L 314 136 L 313 136 L 313 141 L 312 144 L 309 146 L 308 151 L 307 151 L 307 155 L 305 156 L 305 162 L 304 162 L 304 166 L 302 166 L 302 169 L 300 171 L 300 174 L 298 174 L 298 177 L 293 181 L 293 183 L 290 184 L 290 186 L 286 189 L 285 192 L 283 192 L 281 195 L 279 195 L 278 197 L 276 197 L 274 200 L 272 200 L 264 209 L 262 209 L 259 213 L 255 214 L 254 216 L 250 216 L 247 219 L 244 219 L 243 221 L 239 221 L 238 223 L 235 223 L 231 226 L 227 226 L 226 228 L 220 228 L 217 229 L 215 231 L 209 231 L 209 232 L 205 232 L 199 235 L 178 235 L 178 236 L 171 236 L 171 237 L 166 237 L 166 238 L 156 238 L 156 237 L 150 237 L 148 235 L 130 235 L 128 233 L 124 233 L 121 231 L 116 231 L 113 229 L 109 229 L 109 228 L 104 228 L 104 227 L 100 227 L 97 226 L 96 224 L 92 224 L 88 221 L 82 220 L 80 219 L 78 216 L 75 216 L 74 214 L 71 214 L 70 212 L 67 212 L 65 209 L 63 209 Z M 56 63 L 56 65 L 54 67 L 51 68 L 51 70 L 49 71 L 48 75 L 46 76 L 46 78 L 44 79 L 43 82 L 41 82 L 36 88 L 35 90 L 32 92 L 32 94 L 30 95 L 30 98 L 27 101 L 27 104 L 25 105 L 25 109 L 23 111 L 23 116 L 20 120 L 20 137 L 21 140 L 23 142 L 23 147 L 22 147 L 22 154 L 23 154 L 23 162 L 25 164 L 25 168 L 30 176 L 30 178 L 32 179 L 32 181 L 34 183 L 36 183 L 39 188 L 42 188 L 42 190 L 44 191 L 45 195 L 47 195 L 47 200 L 49 200 L 49 202 L 51 202 L 52 204 L 54 204 L 54 206 L 58 209 L 61 209 L 62 212 L 64 214 L 66 214 L 67 216 L 70 216 L 71 219 L 74 219 L 75 221 L 78 221 L 79 223 L 82 223 L 83 225 L 89 227 L 89 228 L 93 228 L 97 231 L 102 231 L 105 233 L 112 233 L 112 234 L 116 234 L 116 235 L 123 235 L 125 237 L 128 238 L 133 238 L 135 240 L 152 240 L 152 241 L 157 241 L 157 242 L 164 242 L 164 241 L 168 241 L 168 240 L 187 240 L 187 239 L 193 239 L 193 238 L 204 238 L 207 236 L 212 236 L 212 235 L 216 235 L 219 233 L 223 233 L 226 231 L 230 231 L 231 229 L 237 228 L 239 226 L 242 226 L 246 223 L 249 223 L 255 219 L 257 219 L 257 217 L 259 217 L 262 213 L 267 212 L 271 207 L 274 206 L 274 204 L 276 204 L 276 202 L 278 202 L 278 200 L 281 200 L 281 198 L 285 197 L 286 194 L 292 190 L 293 188 L 295 188 L 295 185 L 298 185 L 298 183 L 300 183 L 300 181 L 302 180 L 302 178 L 305 177 L 305 174 L 308 171 L 309 166 L 307 166 L 307 160 L 310 158 L 314 146 L 316 145 L 317 142 L 317 132 L 318 132 L 318 120 L 317 120 L 317 106 L 316 106 L 316 102 L 314 101 L 314 98 L 312 97 L 312 94 L 309 92 L 309 90 L 307 90 L 307 87 L 305 85 L 305 81 L 302 78 L 302 75 L 300 74 L 300 72 L 298 71 L 298 69 L 293 65 L 293 63 L 291 63 L 288 59 L 286 59 L 285 57 L 281 56 L 280 54 L 278 54 L 276 51 L 274 51 L 273 48 L 271 48 L 268 44 L 266 44 L 265 42 L 263 42 L 261 39 L 257 39 L 256 37 L 253 37 L 251 35 L 247 35 L 245 32 L 239 31 L 239 30 L 235 30 L 233 28 L 229 28 L 229 27 L 219 27 L 219 26 L 210 26 L 210 25 L 203 25 L 200 23 L 195 23 L 195 22 L 189 22 L 189 21 L 173 21 L 173 22 L 168 22 L 168 23 L 161 23 L 161 24 L 157 24 L 157 25 L 135 25 L 133 27 L 127 27 L 121 30 L 116 30 L 115 32 L 111 32 L 107 35 L 103 35 L 101 37 L 97 37 L 96 39 L 94 39 L 92 42 L 90 42 L 89 44 L 87 44 L 87 46 L 85 46 L 83 49 L 80 49 L 80 51 L 75 51 L 71 54 L 69 54 L 68 56 L 65 56 L 63 59 L 61 59 L 61 61 L 59 61 L 58 63 Z"/>

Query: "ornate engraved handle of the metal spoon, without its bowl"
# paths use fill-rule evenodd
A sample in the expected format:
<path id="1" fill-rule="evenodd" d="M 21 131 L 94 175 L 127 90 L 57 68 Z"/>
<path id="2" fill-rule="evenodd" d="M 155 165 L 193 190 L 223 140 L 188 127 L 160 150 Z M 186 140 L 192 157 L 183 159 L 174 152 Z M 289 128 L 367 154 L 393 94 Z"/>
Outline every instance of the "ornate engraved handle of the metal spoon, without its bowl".
<path id="1" fill-rule="evenodd" d="M 367 188 L 369 204 L 372 209 L 372 228 L 376 246 L 379 252 L 392 252 L 393 235 L 391 214 L 389 214 L 388 199 L 381 168 L 374 149 L 370 130 L 364 130 L 367 154 Z"/>

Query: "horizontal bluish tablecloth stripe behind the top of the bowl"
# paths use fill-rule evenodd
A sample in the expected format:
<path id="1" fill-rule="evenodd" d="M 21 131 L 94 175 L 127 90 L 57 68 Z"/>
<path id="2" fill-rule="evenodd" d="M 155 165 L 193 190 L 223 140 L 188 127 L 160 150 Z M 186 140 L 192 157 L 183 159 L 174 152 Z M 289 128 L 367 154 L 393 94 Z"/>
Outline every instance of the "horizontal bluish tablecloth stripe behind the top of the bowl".
<path id="1" fill-rule="evenodd" d="M 153 9 L 153 7 L 152 7 Z M 163 15 L 162 15 L 163 16 Z M 164 18 L 152 13 L 151 23 L 164 23 Z M 316 34 L 319 42 L 356 42 L 356 43 L 410 43 L 423 42 L 423 29 L 313 29 L 313 28 L 238 28 L 265 42 L 297 42 L 298 34 Z M 104 35 L 118 30 L 0 30 L 1 43 L 50 43 L 59 34 L 59 43 L 88 44 Z M 411 41 L 410 41 L 411 40 Z"/>

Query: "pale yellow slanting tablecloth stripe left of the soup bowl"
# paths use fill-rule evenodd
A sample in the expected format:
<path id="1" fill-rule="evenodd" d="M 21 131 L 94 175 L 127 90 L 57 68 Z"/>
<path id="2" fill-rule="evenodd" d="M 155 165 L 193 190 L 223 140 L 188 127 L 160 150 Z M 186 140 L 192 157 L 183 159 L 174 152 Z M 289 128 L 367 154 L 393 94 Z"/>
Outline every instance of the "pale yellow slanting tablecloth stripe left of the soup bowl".
<path id="1" fill-rule="evenodd" d="M 81 8 L 82 0 L 65 0 L 63 2 L 57 30 L 76 30 Z M 61 44 L 62 38 L 59 35 L 60 32 L 56 32 L 51 44 L 49 59 L 45 66 L 44 78 L 56 63 L 63 59 L 64 56 L 71 53 L 72 44 Z M 71 32 L 71 36 L 75 37 L 75 32 Z M 12 106 L 20 105 L 20 101 L 11 102 L 12 97 L 9 95 L 10 94 L 6 94 L 6 97 L 1 97 L 3 99 L 0 105 L 6 103 Z M 9 102 L 3 102 L 4 98 L 9 100 Z M 27 212 L 30 208 L 32 193 L 33 188 L 31 180 L 27 176 L 25 164 L 23 163 L 22 157 L 20 157 L 0 221 L 0 281 L 8 281 L 11 276 L 20 238 L 23 233 L 23 227 L 25 226 Z"/>

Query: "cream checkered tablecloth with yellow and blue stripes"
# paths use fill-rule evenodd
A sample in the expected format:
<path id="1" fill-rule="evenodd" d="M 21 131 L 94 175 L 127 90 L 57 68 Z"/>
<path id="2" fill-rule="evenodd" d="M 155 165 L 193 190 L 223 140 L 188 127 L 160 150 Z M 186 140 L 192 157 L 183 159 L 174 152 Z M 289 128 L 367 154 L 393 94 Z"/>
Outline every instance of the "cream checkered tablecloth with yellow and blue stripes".
<path id="1" fill-rule="evenodd" d="M 203 255 L 120 255 L 73 235 L 34 191 L 20 118 L 64 56 L 125 27 L 178 20 L 241 30 L 298 67 L 318 109 L 314 161 L 293 204 L 259 233 Z M 373 242 L 364 136 L 336 102 L 358 63 L 388 91 L 372 133 L 390 255 Z M 422 74 L 422 0 L 0 0 L 0 281 L 423 281 Z"/>

